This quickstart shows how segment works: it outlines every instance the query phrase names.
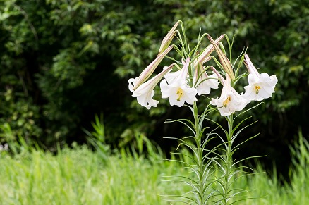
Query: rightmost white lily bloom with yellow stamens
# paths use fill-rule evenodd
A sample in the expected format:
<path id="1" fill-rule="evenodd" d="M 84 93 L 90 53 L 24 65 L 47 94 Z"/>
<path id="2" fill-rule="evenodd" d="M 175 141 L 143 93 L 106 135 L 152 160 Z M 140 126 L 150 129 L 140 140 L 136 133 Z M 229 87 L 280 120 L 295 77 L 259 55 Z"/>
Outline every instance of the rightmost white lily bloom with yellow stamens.
<path id="1" fill-rule="evenodd" d="M 272 97 L 274 87 L 278 82 L 276 75 L 269 76 L 267 73 L 258 73 L 247 54 L 245 54 L 245 65 L 249 71 L 249 85 L 244 87 L 246 90 L 244 97 L 250 101 L 261 101 Z"/>

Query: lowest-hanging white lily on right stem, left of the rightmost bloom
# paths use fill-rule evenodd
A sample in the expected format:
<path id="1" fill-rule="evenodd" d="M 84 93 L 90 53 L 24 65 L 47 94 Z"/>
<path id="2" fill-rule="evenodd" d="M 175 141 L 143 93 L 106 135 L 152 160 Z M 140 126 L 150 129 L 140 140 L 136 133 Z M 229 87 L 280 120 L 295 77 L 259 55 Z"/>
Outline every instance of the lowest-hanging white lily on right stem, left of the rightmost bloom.
<path id="1" fill-rule="evenodd" d="M 231 113 L 241 111 L 249 102 L 250 101 L 243 97 L 243 93 L 238 94 L 238 92 L 231 87 L 231 78 L 229 75 L 226 75 L 220 98 L 212 98 L 210 104 L 217 106 L 222 116 L 229 116 Z"/>

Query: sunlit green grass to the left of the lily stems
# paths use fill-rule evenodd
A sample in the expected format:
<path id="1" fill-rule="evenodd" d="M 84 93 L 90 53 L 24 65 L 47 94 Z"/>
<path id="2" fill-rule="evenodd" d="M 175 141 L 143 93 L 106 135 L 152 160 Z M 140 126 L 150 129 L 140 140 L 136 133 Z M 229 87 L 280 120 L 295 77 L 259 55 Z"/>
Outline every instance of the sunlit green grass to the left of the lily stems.
<path id="1" fill-rule="evenodd" d="M 171 163 L 120 155 L 102 161 L 86 147 L 57 156 L 2 154 L 0 163 L 0 204 L 169 204 L 159 194 L 183 191 L 162 182 L 180 172 Z"/>

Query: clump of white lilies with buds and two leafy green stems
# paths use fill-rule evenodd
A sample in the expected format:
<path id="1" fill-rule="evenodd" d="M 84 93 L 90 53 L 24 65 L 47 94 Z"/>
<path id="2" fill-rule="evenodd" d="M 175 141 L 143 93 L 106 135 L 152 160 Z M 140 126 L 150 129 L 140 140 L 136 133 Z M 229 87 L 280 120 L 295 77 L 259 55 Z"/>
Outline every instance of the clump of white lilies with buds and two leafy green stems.
<path id="1" fill-rule="evenodd" d="M 181 26 L 181 31 L 177 30 L 179 26 Z M 172 44 L 174 37 L 178 39 L 177 44 L 179 46 Z M 190 173 L 193 173 L 193 175 L 178 178 L 178 181 L 191 188 L 190 192 L 174 196 L 180 197 L 176 201 L 183 201 L 186 204 L 226 205 L 241 201 L 241 198 L 236 197 L 244 194 L 246 190 L 234 187 L 234 182 L 246 175 L 242 175 L 241 172 L 241 168 L 245 167 L 238 165 L 245 159 L 234 161 L 233 155 L 241 144 L 257 136 L 248 137 L 238 144 L 235 143 L 236 137 L 243 129 L 248 127 L 248 125 L 244 127 L 241 127 L 241 125 L 250 117 L 243 119 L 241 117 L 244 116 L 243 113 L 251 109 L 245 110 L 250 101 L 261 101 L 272 97 L 277 84 L 275 75 L 269 76 L 267 73 L 259 74 L 257 72 L 248 54 L 241 54 L 240 58 L 236 59 L 236 61 L 238 60 L 238 67 L 235 69 L 236 63 L 231 63 L 231 44 L 226 37 L 230 51 L 230 58 L 227 58 L 222 44 L 224 37 L 226 35 L 220 35 L 218 39 L 214 40 L 205 33 L 199 35 L 197 45 L 190 46 L 184 25 L 181 20 L 178 20 L 164 37 L 154 61 L 143 70 L 139 77 L 128 80 L 128 87 L 133 93 L 132 96 L 137 98 L 141 106 L 150 109 L 159 104 L 159 101 L 152 99 L 154 87 L 159 85 L 162 99 L 168 99 L 171 106 L 186 106 L 190 108 L 193 114 L 193 121 L 190 119 L 166 120 L 166 123 L 182 123 L 192 132 L 192 135 L 188 137 L 169 137 L 177 139 L 180 142 L 179 147 L 182 147 L 176 153 L 181 157 L 173 161 L 181 162 Z M 200 45 L 205 41 L 208 45 L 205 49 L 201 49 Z M 159 68 L 163 59 L 172 49 L 175 49 L 178 54 L 169 57 L 174 61 L 170 66 L 163 66 L 163 69 L 158 72 L 159 74 L 154 75 L 155 70 Z M 199 52 L 199 50 L 202 52 Z M 211 61 L 217 64 L 217 69 L 207 65 Z M 248 68 L 249 74 L 246 71 L 239 74 L 242 67 Z M 210 73 L 212 74 L 210 75 Z M 151 75 L 154 75 L 154 77 L 150 78 Z M 249 85 L 244 87 L 246 93 L 237 92 L 236 84 L 241 82 L 241 78 L 247 76 Z M 212 89 L 219 89 L 220 83 L 222 84 L 221 95 L 214 98 L 211 91 Z M 197 95 L 200 97 L 197 97 Z M 201 96 L 206 96 L 207 100 L 211 100 L 207 103 L 203 101 L 202 104 L 198 104 Z M 199 111 L 201 106 L 205 106 L 202 112 Z M 252 108 L 255 108 L 255 106 Z M 212 117 L 216 111 L 226 118 L 227 128 L 213 120 Z M 238 112 L 240 113 L 236 114 Z M 240 123 L 234 125 L 236 118 L 241 118 Z M 224 131 L 226 137 L 217 133 L 217 128 L 211 130 L 210 125 L 217 125 L 217 128 Z M 214 138 L 221 139 L 222 143 L 210 147 L 209 142 Z M 187 154 L 184 151 L 185 149 L 188 149 L 190 154 Z M 190 159 L 190 161 L 182 160 L 185 158 Z M 218 172 L 220 174 L 217 174 Z M 169 201 L 171 200 L 169 199 Z"/>

